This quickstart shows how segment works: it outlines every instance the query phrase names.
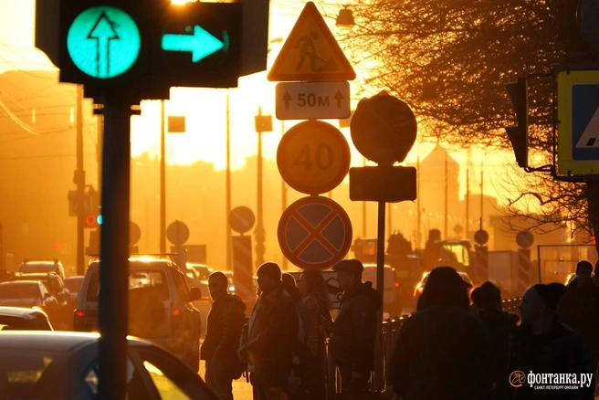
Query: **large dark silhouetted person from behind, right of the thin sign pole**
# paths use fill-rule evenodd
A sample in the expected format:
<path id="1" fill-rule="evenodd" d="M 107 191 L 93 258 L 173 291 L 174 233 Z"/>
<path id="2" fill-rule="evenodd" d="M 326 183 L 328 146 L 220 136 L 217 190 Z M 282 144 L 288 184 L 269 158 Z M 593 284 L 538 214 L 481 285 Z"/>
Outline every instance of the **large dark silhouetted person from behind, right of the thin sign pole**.
<path id="1" fill-rule="evenodd" d="M 489 333 L 469 311 L 455 268 L 434 268 L 420 309 L 405 320 L 387 359 L 387 382 L 403 400 L 489 400 Z"/>

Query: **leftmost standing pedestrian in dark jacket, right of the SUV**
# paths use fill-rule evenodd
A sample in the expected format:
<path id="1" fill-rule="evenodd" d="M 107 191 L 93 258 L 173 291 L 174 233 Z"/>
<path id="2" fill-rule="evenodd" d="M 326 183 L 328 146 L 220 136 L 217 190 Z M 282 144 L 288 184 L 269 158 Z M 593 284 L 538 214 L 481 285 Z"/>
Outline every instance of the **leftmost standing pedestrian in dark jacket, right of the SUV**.
<path id="1" fill-rule="evenodd" d="M 205 383 L 221 400 L 233 400 L 233 379 L 238 379 L 246 364 L 237 358 L 241 329 L 246 323 L 246 304 L 228 293 L 228 279 L 220 271 L 208 278 L 214 301 L 208 313 L 206 335 L 200 358 L 205 360 Z"/>

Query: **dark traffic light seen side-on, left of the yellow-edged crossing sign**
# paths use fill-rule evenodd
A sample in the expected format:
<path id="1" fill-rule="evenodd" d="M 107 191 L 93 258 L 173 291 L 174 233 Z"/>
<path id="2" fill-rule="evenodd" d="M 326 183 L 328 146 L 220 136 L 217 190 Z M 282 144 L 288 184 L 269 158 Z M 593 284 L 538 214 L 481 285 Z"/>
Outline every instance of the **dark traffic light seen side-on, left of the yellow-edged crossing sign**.
<path id="1" fill-rule="evenodd" d="M 516 111 L 518 125 L 506 127 L 511 147 L 516 154 L 516 163 L 520 168 L 529 165 L 529 135 L 528 135 L 528 89 L 526 78 L 519 78 L 517 82 L 504 83 L 508 90 L 511 102 Z"/>

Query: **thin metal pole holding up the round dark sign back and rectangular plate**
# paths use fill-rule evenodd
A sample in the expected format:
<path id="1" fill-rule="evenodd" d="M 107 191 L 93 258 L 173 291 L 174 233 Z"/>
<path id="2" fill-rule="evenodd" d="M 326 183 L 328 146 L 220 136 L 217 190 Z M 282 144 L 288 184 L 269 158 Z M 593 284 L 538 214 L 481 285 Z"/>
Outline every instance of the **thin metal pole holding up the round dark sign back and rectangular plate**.
<path id="1" fill-rule="evenodd" d="M 376 291 L 384 296 L 384 213 L 385 202 L 379 202 L 379 220 L 376 236 Z M 374 389 L 383 390 L 383 305 L 377 311 L 376 340 L 374 342 Z"/>

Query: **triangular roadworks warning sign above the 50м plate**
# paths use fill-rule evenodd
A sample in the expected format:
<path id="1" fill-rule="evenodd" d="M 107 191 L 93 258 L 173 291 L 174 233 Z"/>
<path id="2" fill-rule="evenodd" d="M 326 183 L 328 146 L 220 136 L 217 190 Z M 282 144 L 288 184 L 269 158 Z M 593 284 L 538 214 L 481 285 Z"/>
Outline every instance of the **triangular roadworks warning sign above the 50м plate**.
<path id="1" fill-rule="evenodd" d="M 270 81 L 353 80 L 355 71 L 316 5 L 306 3 L 277 59 Z"/>

